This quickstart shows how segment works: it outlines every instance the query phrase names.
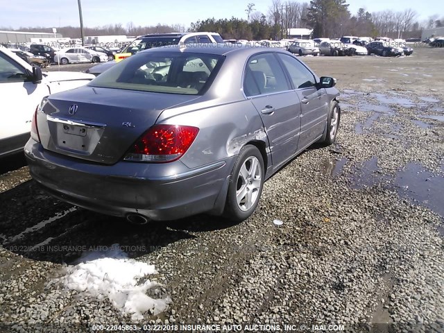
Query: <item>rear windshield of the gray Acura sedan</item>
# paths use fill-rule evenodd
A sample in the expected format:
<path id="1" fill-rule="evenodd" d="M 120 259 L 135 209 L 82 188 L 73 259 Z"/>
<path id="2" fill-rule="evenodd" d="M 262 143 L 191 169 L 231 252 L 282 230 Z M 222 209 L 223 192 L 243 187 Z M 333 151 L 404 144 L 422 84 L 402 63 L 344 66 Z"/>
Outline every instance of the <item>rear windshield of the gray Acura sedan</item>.
<path id="1" fill-rule="evenodd" d="M 223 56 L 204 53 L 142 52 L 97 76 L 88 85 L 117 89 L 202 94 Z"/>

